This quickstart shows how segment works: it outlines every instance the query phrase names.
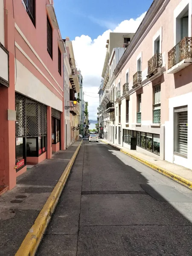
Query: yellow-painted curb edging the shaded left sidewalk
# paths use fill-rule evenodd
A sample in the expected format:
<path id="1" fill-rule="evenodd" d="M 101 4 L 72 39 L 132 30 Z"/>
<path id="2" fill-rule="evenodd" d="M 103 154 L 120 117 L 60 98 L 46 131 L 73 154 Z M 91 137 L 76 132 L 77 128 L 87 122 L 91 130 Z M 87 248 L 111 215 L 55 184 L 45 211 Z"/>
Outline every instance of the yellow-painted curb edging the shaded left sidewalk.
<path id="1" fill-rule="evenodd" d="M 15 254 L 15 256 L 34 256 L 35 255 L 38 245 L 40 244 L 40 241 L 50 221 L 51 215 L 54 212 L 58 199 L 61 195 L 64 185 L 70 174 L 70 170 L 79 152 L 79 148 L 81 147 L 82 141 L 83 140 L 81 140 L 81 143 L 79 144 L 78 148 L 73 154 L 73 157 L 70 159 L 69 163 L 67 164 L 67 167 L 65 168 L 63 174 L 58 180 L 58 183 L 53 189 L 51 195 L 49 195 L 47 202 L 44 204 L 44 207 L 42 208 L 41 212 L 36 218 L 31 229 L 27 233 L 25 239 L 23 240 L 22 244 L 17 250 L 17 253 Z"/>

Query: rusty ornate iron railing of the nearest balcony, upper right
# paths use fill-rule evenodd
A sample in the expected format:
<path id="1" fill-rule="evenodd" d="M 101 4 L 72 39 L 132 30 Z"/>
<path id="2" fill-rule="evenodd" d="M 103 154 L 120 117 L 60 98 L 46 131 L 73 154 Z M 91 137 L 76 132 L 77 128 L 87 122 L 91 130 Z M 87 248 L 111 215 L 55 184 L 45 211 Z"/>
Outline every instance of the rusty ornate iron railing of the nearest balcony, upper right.
<path id="1" fill-rule="evenodd" d="M 168 52 L 168 69 L 185 58 L 192 58 L 192 38 L 185 37 Z"/>

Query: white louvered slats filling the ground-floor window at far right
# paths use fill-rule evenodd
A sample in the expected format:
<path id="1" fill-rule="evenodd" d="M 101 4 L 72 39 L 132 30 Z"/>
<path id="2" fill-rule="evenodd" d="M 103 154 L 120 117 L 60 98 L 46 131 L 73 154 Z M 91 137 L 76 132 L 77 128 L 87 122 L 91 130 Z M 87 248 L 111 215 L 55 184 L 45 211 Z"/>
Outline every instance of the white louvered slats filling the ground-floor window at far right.
<path id="1" fill-rule="evenodd" d="M 187 156 L 187 139 L 188 139 L 188 121 L 187 111 L 177 114 L 177 152 Z"/>

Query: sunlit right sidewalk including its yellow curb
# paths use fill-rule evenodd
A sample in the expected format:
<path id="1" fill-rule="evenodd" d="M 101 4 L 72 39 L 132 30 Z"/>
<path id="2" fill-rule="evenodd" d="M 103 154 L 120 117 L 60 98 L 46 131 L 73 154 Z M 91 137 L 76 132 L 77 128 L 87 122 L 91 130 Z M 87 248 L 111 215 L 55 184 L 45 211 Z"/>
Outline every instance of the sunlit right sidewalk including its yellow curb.
<path id="1" fill-rule="evenodd" d="M 183 166 L 176 165 L 174 163 L 169 163 L 165 160 L 160 160 L 156 157 L 148 156 L 147 154 L 140 153 L 135 150 L 130 150 L 128 148 L 123 148 L 122 146 L 113 144 L 106 140 L 101 140 L 112 147 L 118 148 L 123 153 L 127 154 L 130 157 L 140 161 L 141 163 L 151 167 L 152 169 L 161 172 L 163 175 L 166 175 L 177 182 L 182 183 L 185 186 L 188 186 L 192 189 L 192 170 L 187 169 Z"/>

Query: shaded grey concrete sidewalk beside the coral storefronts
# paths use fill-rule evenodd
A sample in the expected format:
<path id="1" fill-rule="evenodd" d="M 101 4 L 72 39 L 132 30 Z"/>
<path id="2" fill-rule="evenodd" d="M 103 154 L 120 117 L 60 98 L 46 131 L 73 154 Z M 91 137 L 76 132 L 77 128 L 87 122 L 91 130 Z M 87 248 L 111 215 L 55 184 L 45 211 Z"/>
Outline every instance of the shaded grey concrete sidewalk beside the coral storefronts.
<path id="1" fill-rule="evenodd" d="M 0 197 L 0 256 L 14 256 L 81 140 L 27 170 Z"/>

